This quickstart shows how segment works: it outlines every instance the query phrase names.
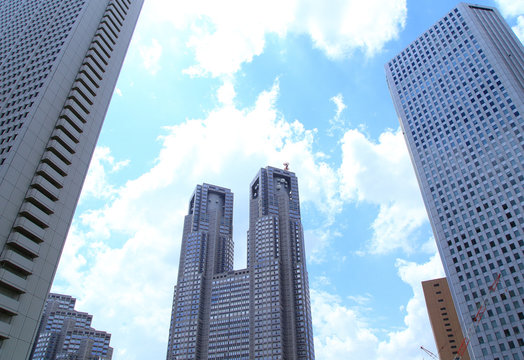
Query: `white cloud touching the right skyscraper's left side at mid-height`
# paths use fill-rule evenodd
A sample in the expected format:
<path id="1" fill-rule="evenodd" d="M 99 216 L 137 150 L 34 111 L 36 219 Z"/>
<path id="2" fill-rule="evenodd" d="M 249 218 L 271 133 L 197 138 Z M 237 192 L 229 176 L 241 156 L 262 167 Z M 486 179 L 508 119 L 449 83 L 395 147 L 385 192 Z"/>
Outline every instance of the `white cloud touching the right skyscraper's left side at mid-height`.
<path id="1" fill-rule="evenodd" d="M 427 221 L 427 213 L 402 132 L 387 130 L 375 143 L 352 129 L 341 143 L 341 197 L 379 207 L 369 251 L 412 252 L 412 234 Z"/>

